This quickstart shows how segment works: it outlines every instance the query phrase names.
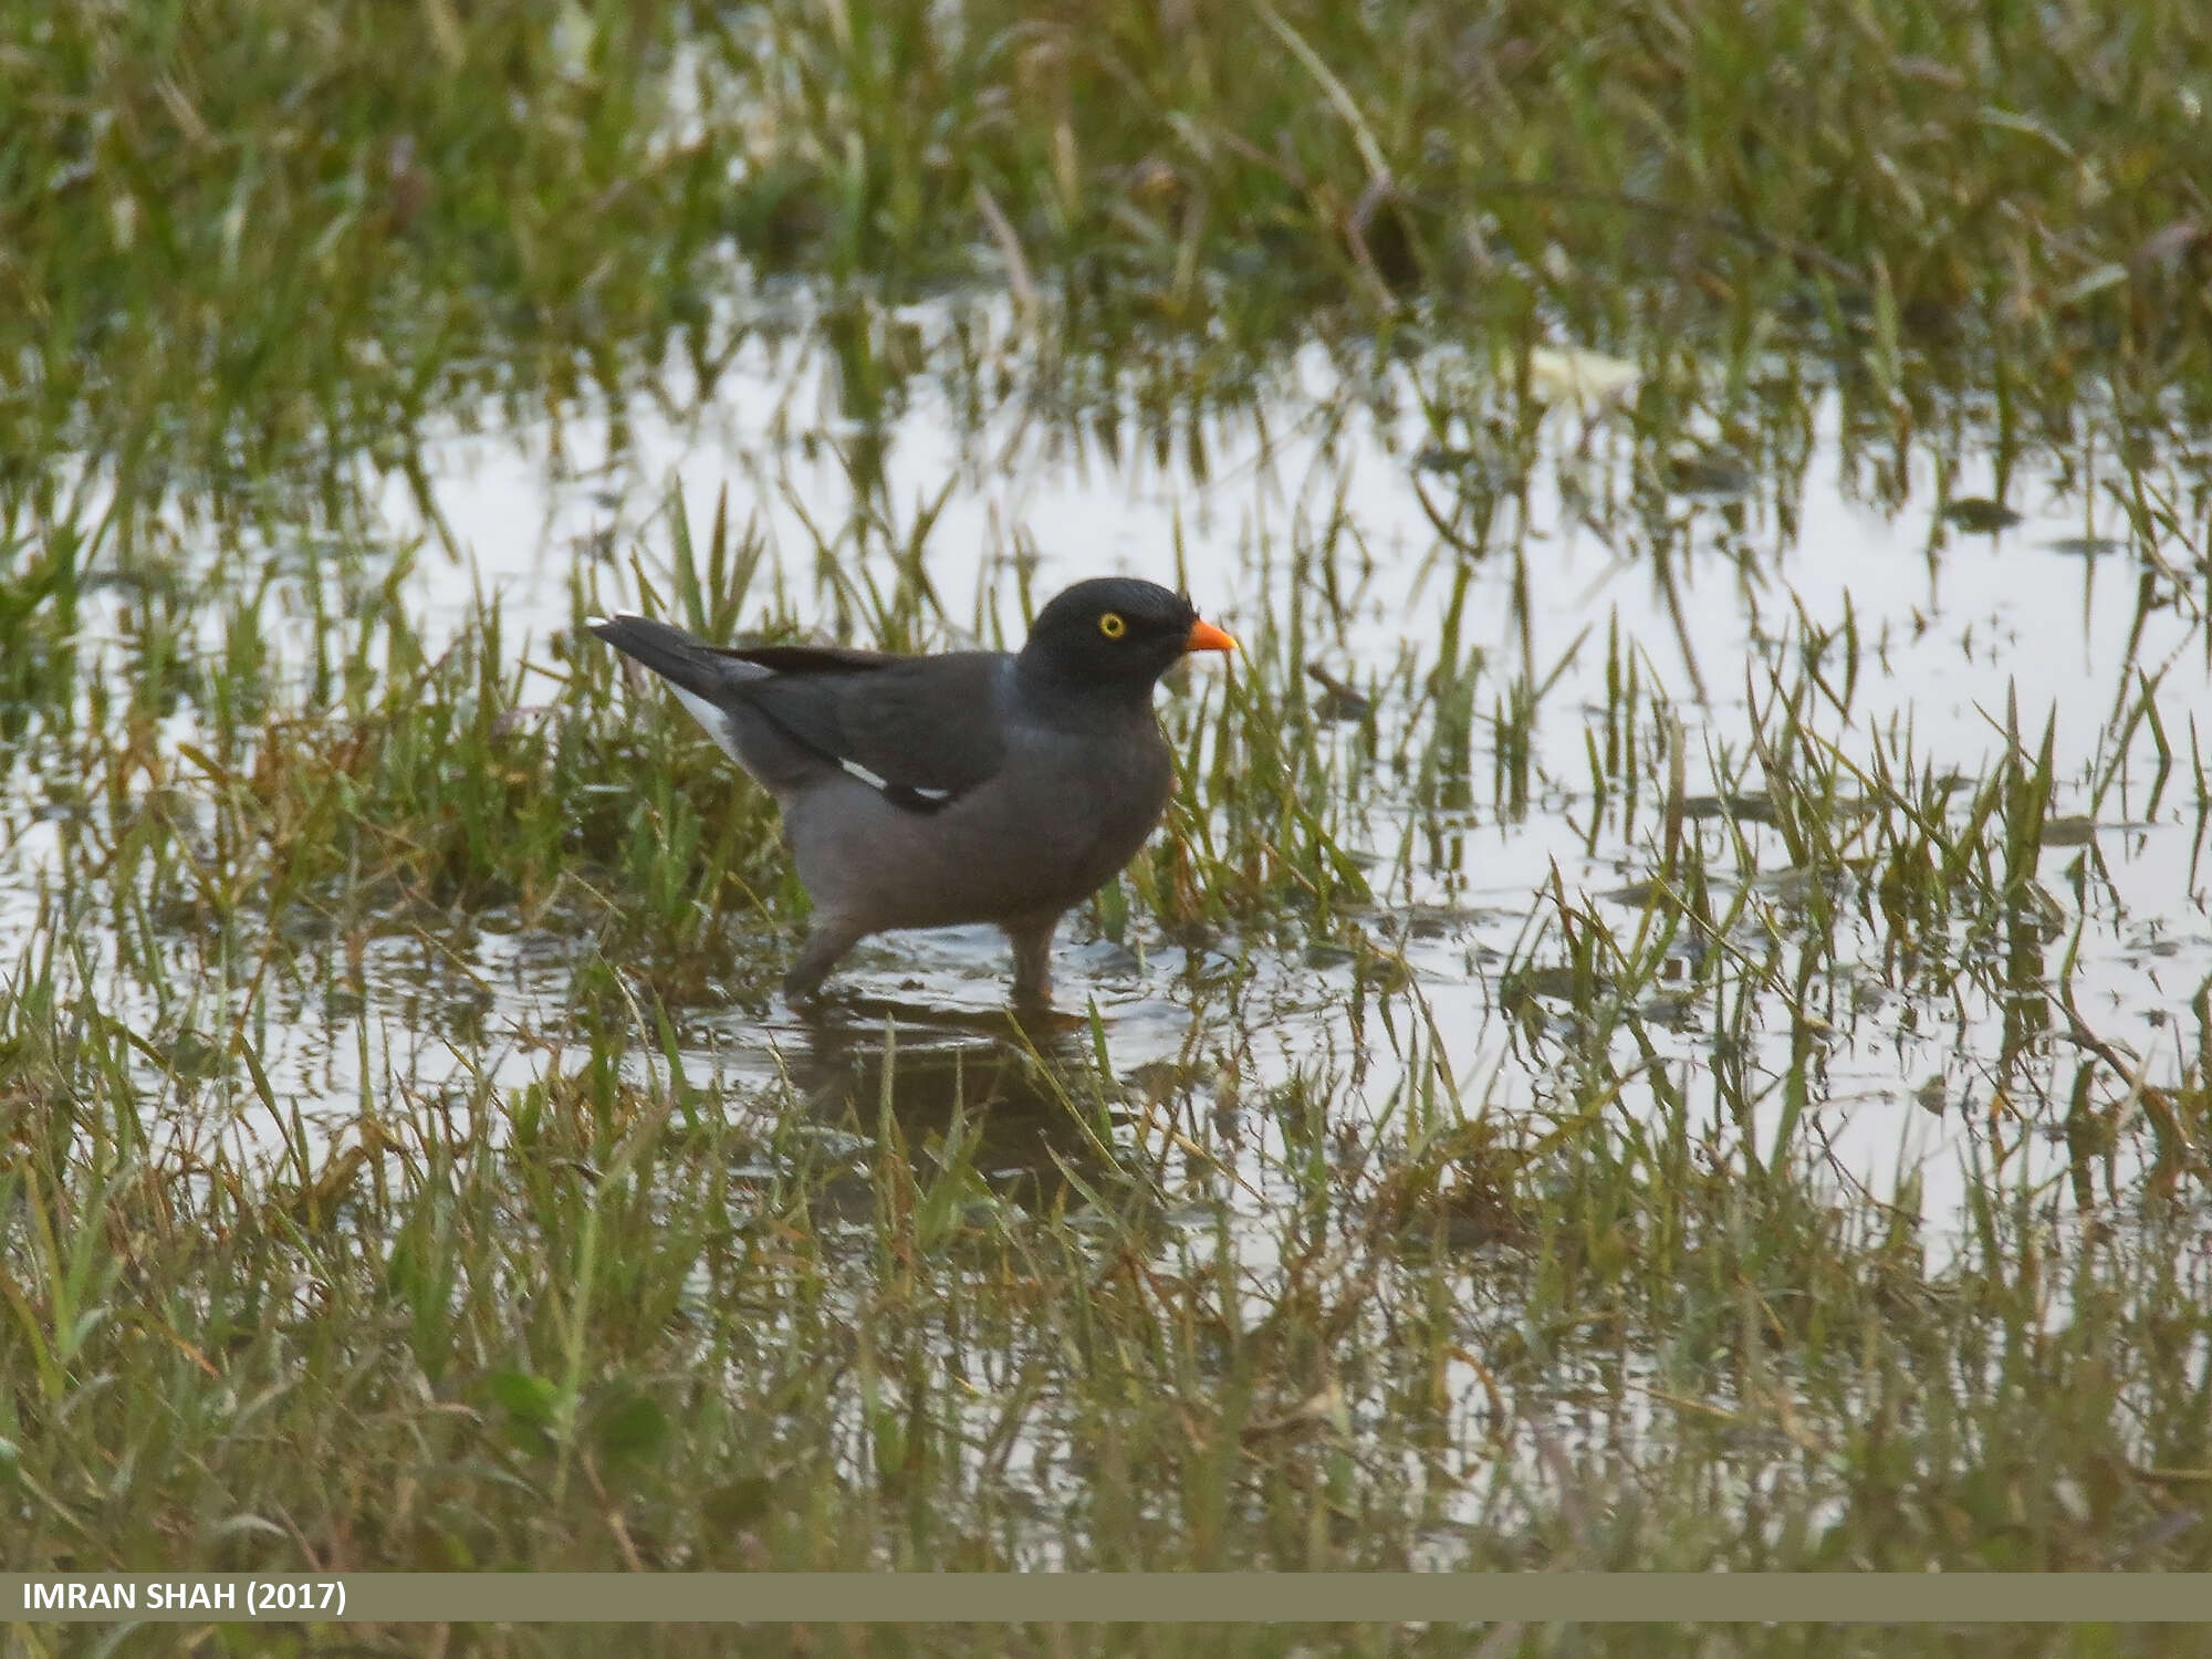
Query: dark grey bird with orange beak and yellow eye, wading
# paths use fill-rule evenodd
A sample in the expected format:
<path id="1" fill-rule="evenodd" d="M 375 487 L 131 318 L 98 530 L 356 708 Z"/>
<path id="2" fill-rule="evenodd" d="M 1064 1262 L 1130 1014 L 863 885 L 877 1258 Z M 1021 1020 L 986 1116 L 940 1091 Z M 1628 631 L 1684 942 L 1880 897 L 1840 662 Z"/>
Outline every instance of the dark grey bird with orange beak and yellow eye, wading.
<path id="1" fill-rule="evenodd" d="M 814 905 L 794 1006 L 869 933 L 962 922 L 995 922 L 1015 1004 L 1048 1006 L 1060 918 L 1137 856 L 1175 790 L 1152 688 L 1190 653 L 1239 650 L 1137 577 L 1066 588 L 1020 653 L 732 648 L 633 613 L 584 626 L 774 796 Z"/>

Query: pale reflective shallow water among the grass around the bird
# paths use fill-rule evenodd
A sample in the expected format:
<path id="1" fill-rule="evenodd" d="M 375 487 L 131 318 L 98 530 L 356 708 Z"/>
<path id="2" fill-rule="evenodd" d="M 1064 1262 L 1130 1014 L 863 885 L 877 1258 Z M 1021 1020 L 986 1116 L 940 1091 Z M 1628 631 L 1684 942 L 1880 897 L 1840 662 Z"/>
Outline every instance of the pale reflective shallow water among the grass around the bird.
<path id="1" fill-rule="evenodd" d="M 949 349 L 942 341 L 956 319 L 969 349 L 978 336 L 1006 343 L 1013 327 L 989 305 L 914 307 L 889 321 L 916 332 L 927 363 Z M 2055 814 L 2088 810 L 2088 779 L 2108 770 L 2124 776 L 2101 801 L 2099 827 L 2057 836 L 2088 845 L 2046 847 L 2042 880 L 2057 914 L 2044 929 L 2042 971 L 2070 951 L 2073 998 L 2097 1035 L 2141 1060 L 2139 1082 L 2177 1079 L 2190 1042 L 2188 1002 L 2212 971 L 2203 823 L 2185 752 L 2194 710 L 2212 708 L 2201 573 L 2174 549 L 2150 549 L 2146 562 L 2095 458 L 2011 456 L 2004 493 L 2020 522 L 1966 533 L 1940 515 L 1940 487 L 1951 495 L 1991 491 L 1991 456 L 1927 445 L 1907 467 L 1885 471 L 1845 440 L 1832 389 L 1776 400 L 1798 420 L 1801 467 L 1674 480 L 1692 491 L 1652 482 L 1655 451 L 1635 442 L 1619 403 L 1566 403 L 1544 416 L 1537 465 L 1502 491 L 1491 551 L 1471 560 L 1440 544 L 1416 493 L 1449 504 L 1455 489 L 1449 458 L 1440 465 L 1433 453 L 1440 434 L 1420 414 L 1420 396 L 1464 407 L 1469 420 L 1447 434 L 1464 438 L 1467 427 L 1480 427 L 1473 411 L 1498 396 L 1498 383 L 1489 365 L 1444 349 L 1354 380 L 1312 347 L 1263 378 L 1256 398 L 1179 422 L 1164 447 L 1137 440 L 1137 422 L 1124 427 L 1115 456 L 1095 425 L 1057 418 L 1018 394 L 984 403 L 978 418 L 973 380 L 951 374 L 911 376 L 896 414 L 876 429 L 854 427 L 838 411 L 834 354 L 803 314 L 785 323 L 741 354 L 708 396 L 679 392 L 624 409 L 615 453 L 613 427 L 577 416 L 434 447 L 425 462 L 436 504 L 467 562 L 431 553 L 409 577 L 431 637 L 462 626 L 476 595 L 493 593 L 509 650 L 542 661 L 546 641 L 573 626 L 580 562 L 591 566 L 595 602 L 633 602 L 626 562 L 633 553 L 648 568 L 664 562 L 670 493 L 703 526 L 723 489 L 734 518 L 761 522 L 794 604 L 807 613 L 810 524 L 849 533 L 852 456 L 865 447 L 880 467 L 876 500 L 894 513 L 916 513 L 951 480 L 927 540 L 927 568 L 949 617 L 980 617 L 978 606 L 995 597 L 1000 624 L 1018 635 L 1006 575 L 1031 562 L 1037 599 L 1102 571 L 1181 573 L 1206 615 L 1239 630 L 1261 657 L 1281 655 L 1270 630 L 1296 615 L 1310 659 L 1376 697 L 1376 750 L 1387 754 L 1394 734 L 1420 732 L 1425 717 L 1407 688 L 1436 661 L 1453 577 L 1471 564 L 1460 648 L 1484 653 L 1478 712 L 1495 708 L 1515 677 L 1542 686 L 1528 721 L 1524 807 L 1506 792 L 1493 799 L 1498 734 L 1482 723 L 1467 799 L 1455 807 L 1418 805 L 1387 763 L 1363 759 L 1354 723 L 1318 739 L 1349 779 L 1345 847 L 1369 863 L 1376 883 L 1378 902 L 1354 922 L 1409 971 L 1383 993 L 1398 1018 L 1376 1018 L 1371 973 L 1363 995 L 1356 951 L 1327 940 L 1301 947 L 1294 931 L 1221 933 L 1199 947 L 1133 927 L 1126 945 L 1110 945 L 1088 938 L 1079 918 L 1064 927 L 1062 1002 L 1077 1013 L 1095 1004 L 1110 1066 L 1137 1079 L 1139 1097 L 1146 1077 L 1170 1077 L 1172 1106 L 1159 1108 L 1186 1113 L 1192 1128 L 1208 1117 L 1217 1124 L 1210 1144 L 1237 1177 L 1217 1186 L 1232 1206 L 1256 1214 L 1290 1179 L 1281 1124 L 1248 1113 L 1252 1121 L 1239 1128 L 1237 1102 L 1263 1102 L 1298 1075 L 1332 1075 L 1332 1110 L 1354 1119 L 1400 1099 L 1420 1082 L 1413 1073 L 1444 1079 L 1464 1113 L 1564 1108 L 1559 1031 L 1573 1024 L 1564 1002 L 1546 995 L 1542 980 L 1542 1015 L 1528 1015 L 1526 1004 L 1515 1015 L 1500 995 L 1509 967 L 1562 960 L 1548 889 L 1557 883 L 1575 909 L 1632 931 L 1641 909 L 1632 885 L 1652 874 L 1659 836 L 1655 714 L 1681 721 L 1690 796 L 1754 787 L 1756 765 L 1743 781 L 1754 703 L 1772 703 L 1772 675 L 1796 672 L 1807 637 L 1832 637 L 1825 670 L 1829 684 L 1843 684 L 1845 646 L 1834 641 L 1847 622 L 1858 639 L 1849 708 L 1814 699 L 1807 723 L 1854 763 L 1867 763 L 1876 734 L 1898 741 L 1909 732 L 1916 765 L 1980 779 L 2004 754 L 2011 703 L 2031 748 L 2046 719 L 2053 723 Z M 1776 420 L 1776 431 L 1787 425 Z M 1203 467 L 1192 465 L 1192 431 L 1203 440 Z M 387 489 L 385 511 L 394 544 L 429 535 L 405 487 Z M 2081 538 L 2112 538 L 2119 551 L 2086 555 Z M 843 551 L 883 566 L 887 542 Z M 2157 560 L 2177 568 L 2161 573 Z M 1588 757 L 1590 732 L 1604 732 L 1608 703 L 1619 701 L 1608 692 L 1608 635 L 1619 641 L 1617 659 L 1637 659 L 1644 710 L 1641 750 L 1601 807 Z M 1199 666 L 1170 692 L 1170 726 L 1188 699 L 1210 695 L 1203 679 L 1214 672 L 1223 670 Z M 1225 672 L 1254 672 L 1254 664 Z M 2163 794 L 2150 787 L 2157 757 L 2148 726 L 2135 726 L 2124 754 L 2115 750 L 2143 675 L 2183 745 L 2179 776 Z M 1318 697 L 1318 686 L 1301 688 Z M 164 741 L 188 737 L 179 723 Z M 1719 765 L 1721 757 L 1732 763 Z M 1624 823 L 1619 787 L 1637 770 L 1641 801 Z M 1732 867 L 1723 823 L 1697 818 L 1692 832 L 1714 869 Z M 1787 869 L 1772 827 L 1747 821 L 1741 834 L 1754 858 L 1752 869 L 1734 872 L 1752 883 L 1743 940 L 1790 940 L 1803 929 L 1805 876 Z M 18 942 L 35 920 L 24 896 L 38 887 L 46 847 L 42 825 L 20 823 L 7 849 L 15 902 L 0 911 L 0 925 Z M 2077 860 L 2073 876 L 2062 874 Z M 1834 958 L 1814 987 L 1825 1029 L 1820 1086 L 1807 1110 L 1838 1179 L 1887 1194 L 1918 1170 L 1929 1217 L 1940 1223 L 1958 1214 L 1966 1183 L 1986 1177 L 2000 1146 L 2004 1157 L 2026 1159 L 2011 1164 L 2015 1177 L 2022 1168 L 2057 1175 L 2064 1148 L 2046 1108 L 2064 1099 L 2079 1055 L 2044 1042 L 2000 1075 L 2002 998 L 1986 984 L 1975 989 L 1971 975 L 1955 995 L 1885 982 L 1878 911 L 1856 902 L 1851 872 L 1823 878 L 1838 883 L 1840 920 Z M 467 1075 L 500 1084 L 542 1075 L 560 1053 L 573 975 L 591 945 L 511 929 L 500 918 L 453 918 L 438 949 L 380 940 L 365 964 L 369 998 L 361 1009 L 294 998 L 283 1029 L 263 1044 L 279 1097 L 336 1133 L 365 1088 L 434 1097 Z M 86 945 L 86 964 L 97 971 L 108 947 Z M 201 987 L 195 998 L 239 982 L 237 967 L 204 960 L 197 940 L 173 938 L 166 949 L 173 982 Z M 902 1057 L 891 1093 L 927 1115 L 933 1091 L 947 1093 L 947 1057 L 1004 1071 L 1004 971 L 991 929 L 872 940 L 849 958 L 827 1022 L 781 1006 L 688 1011 L 684 1071 L 695 1084 L 721 1079 L 737 1097 L 776 1093 L 787 1079 L 827 1088 L 860 1077 L 854 1099 L 865 1121 L 867 1099 L 883 1093 L 889 1026 Z M 139 978 L 106 975 L 102 995 L 146 1035 L 179 1024 L 175 998 L 153 995 Z M 1728 1121 L 1710 1084 L 1710 1009 L 1692 1002 L 1648 1013 L 1668 1075 L 1710 1110 L 1714 1135 L 1770 1146 L 1781 1091 L 1770 1091 L 1754 1119 Z M 199 1006 L 192 1018 L 212 1024 L 217 1009 Z M 1776 1006 L 1756 1029 L 1743 1071 L 1774 1082 L 1792 1064 L 1792 1020 Z M 1436 1042 L 1409 1033 L 1433 1033 Z M 1079 1042 L 1091 1042 L 1088 1031 Z M 1632 1071 L 1626 1037 L 1613 1046 Z M 146 1064 L 155 1097 L 177 1088 Z M 283 1135 L 237 1079 L 223 1088 L 234 1095 L 226 1110 L 175 1121 L 192 1121 L 195 1135 L 234 1137 L 241 1152 Z M 1650 1110 L 1639 1093 L 1632 1077 L 1619 1108 Z M 949 1099 L 938 1106 L 949 1110 Z M 1018 1150 L 1006 1157 L 1042 1168 Z"/>

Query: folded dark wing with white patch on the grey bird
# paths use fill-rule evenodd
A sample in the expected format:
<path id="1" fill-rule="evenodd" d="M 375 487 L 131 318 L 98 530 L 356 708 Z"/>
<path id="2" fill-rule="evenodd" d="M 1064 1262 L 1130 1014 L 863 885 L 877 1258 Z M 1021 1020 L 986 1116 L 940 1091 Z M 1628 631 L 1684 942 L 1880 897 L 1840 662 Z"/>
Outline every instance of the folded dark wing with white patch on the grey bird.
<path id="1" fill-rule="evenodd" d="M 1006 757 L 1000 653 L 883 657 L 770 646 L 741 655 L 774 670 L 743 688 L 748 703 L 794 743 L 909 812 L 940 812 Z"/>

